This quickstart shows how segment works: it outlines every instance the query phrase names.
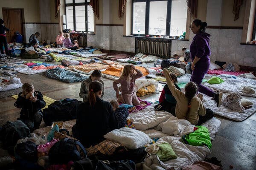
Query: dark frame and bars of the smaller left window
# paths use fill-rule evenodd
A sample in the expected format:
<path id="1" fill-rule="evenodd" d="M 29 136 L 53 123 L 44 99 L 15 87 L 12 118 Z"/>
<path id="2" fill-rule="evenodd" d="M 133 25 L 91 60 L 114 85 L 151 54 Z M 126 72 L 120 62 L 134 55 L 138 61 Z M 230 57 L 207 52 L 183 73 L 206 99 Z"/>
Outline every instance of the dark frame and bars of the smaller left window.
<path id="1" fill-rule="evenodd" d="M 90 5 L 90 2 L 87 2 L 87 0 L 84 0 L 84 3 L 75 3 L 75 0 L 73 0 L 73 3 L 66 3 L 66 0 L 64 0 L 65 2 L 65 14 L 67 14 L 67 11 L 66 11 L 66 7 L 67 6 L 72 6 L 73 7 L 73 29 L 74 31 L 79 31 L 79 30 L 76 30 L 76 6 L 84 6 L 85 8 L 85 32 L 90 32 L 90 33 L 94 33 L 94 31 L 88 31 L 88 8 L 87 6 Z M 67 23 L 67 15 L 66 15 L 66 23 Z M 95 24 L 95 20 L 93 19 L 93 24 Z M 68 29 L 68 28 L 67 28 Z"/>

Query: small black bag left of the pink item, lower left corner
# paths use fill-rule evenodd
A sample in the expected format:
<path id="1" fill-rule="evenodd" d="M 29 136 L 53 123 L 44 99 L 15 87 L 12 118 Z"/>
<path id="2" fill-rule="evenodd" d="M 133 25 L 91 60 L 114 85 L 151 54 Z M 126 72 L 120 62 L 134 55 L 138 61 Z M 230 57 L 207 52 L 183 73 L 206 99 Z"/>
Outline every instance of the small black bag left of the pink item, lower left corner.
<path id="1" fill-rule="evenodd" d="M 15 153 L 20 156 L 22 159 L 28 161 L 36 162 L 37 161 L 37 147 L 38 144 L 35 144 L 31 141 L 26 141 L 20 144 L 17 144 Z"/>

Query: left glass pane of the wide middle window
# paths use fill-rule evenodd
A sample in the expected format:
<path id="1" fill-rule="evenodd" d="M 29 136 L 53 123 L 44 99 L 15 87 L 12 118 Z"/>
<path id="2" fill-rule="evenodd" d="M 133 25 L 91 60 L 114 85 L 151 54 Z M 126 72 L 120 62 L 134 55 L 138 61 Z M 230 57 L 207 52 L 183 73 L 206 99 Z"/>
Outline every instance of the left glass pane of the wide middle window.
<path id="1" fill-rule="evenodd" d="M 134 3 L 133 10 L 133 34 L 138 34 L 140 29 L 140 34 L 145 34 L 145 16 L 146 16 L 146 3 Z"/>

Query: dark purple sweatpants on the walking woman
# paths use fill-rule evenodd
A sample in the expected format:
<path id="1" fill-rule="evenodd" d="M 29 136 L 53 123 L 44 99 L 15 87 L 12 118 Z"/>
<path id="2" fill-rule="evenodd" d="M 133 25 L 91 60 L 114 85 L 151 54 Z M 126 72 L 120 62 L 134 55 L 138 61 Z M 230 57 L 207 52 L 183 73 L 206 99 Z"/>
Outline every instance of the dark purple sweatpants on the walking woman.
<path id="1" fill-rule="evenodd" d="M 195 82 L 195 84 L 198 86 L 199 92 L 206 94 L 209 97 L 214 97 L 214 91 L 210 90 L 204 85 L 201 85 L 202 80 L 204 79 L 204 75 L 209 69 L 209 65 L 210 63 L 205 63 L 204 65 L 198 63 L 198 65 L 195 65 L 195 70 L 192 72 L 190 81 Z"/>

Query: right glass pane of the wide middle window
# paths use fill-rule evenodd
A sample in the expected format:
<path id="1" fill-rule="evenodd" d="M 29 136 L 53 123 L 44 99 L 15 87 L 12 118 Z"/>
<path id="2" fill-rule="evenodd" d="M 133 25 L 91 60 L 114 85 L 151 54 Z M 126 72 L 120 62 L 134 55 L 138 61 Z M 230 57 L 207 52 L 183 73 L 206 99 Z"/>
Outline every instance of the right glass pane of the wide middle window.
<path id="1" fill-rule="evenodd" d="M 170 35 L 180 36 L 186 31 L 187 17 L 186 0 L 173 0 L 171 13 Z"/>

